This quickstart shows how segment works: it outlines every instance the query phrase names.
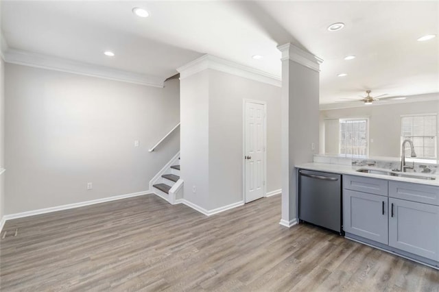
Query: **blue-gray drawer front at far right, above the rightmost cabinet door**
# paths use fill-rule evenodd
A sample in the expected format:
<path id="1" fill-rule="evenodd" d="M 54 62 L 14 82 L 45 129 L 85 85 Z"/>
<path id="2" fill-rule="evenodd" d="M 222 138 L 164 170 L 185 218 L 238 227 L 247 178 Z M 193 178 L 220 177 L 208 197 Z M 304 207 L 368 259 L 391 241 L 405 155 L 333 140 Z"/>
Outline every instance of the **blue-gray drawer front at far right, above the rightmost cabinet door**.
<path id="1" fill-rule="evenodd" d="M 439 187 L 390 181 L 389 197 L 439 206 Z"/>

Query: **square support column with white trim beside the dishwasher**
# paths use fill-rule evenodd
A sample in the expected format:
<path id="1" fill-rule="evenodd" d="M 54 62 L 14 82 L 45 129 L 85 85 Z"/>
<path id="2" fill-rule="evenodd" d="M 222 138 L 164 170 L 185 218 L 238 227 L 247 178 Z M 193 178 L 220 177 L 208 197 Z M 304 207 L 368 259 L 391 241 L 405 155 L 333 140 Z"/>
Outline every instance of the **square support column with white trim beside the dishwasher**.
<path id="1" fill-rule="evenodd" d="M 282 226 L 298 220 L 294 165 L 318 153 L 319 72 L 322 60 L 287 43 L 282 52 Z M 312 147 L 313 145 L 313 147 Z"/>

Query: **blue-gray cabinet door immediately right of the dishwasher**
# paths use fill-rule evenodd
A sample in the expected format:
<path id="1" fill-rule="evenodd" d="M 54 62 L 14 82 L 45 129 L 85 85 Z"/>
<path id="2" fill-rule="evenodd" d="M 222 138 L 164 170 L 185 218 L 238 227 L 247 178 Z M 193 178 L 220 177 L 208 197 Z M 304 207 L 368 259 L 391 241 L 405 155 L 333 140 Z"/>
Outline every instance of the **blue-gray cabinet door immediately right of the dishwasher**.
<path id="1" fill-rule="evenodd" d="M 388 244 L 388 197 L 357 191 L 343 192 L 344 231 Z"/>

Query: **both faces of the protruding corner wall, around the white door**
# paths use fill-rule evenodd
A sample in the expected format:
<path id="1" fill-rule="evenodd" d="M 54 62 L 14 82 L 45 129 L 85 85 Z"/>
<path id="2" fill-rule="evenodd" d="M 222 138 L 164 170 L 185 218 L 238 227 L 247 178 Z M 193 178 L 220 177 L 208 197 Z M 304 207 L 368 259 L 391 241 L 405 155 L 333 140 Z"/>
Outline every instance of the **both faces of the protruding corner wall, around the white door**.
<path id="1" fill-rule="evenodd" d="M 267 102 L 267 191 L 281 188 L 281 88 L 206 69 L 180 90 L 185 199 L 206 210 L 243 200 L 244 99 Z"/>

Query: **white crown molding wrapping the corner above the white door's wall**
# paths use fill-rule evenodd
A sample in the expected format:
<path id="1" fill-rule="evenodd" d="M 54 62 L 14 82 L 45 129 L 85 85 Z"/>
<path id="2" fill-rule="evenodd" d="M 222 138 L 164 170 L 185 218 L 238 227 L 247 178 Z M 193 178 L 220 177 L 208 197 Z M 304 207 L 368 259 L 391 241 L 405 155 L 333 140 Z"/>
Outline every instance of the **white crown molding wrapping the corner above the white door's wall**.
<path id="1" fill-rule="evenodd" d="M 181 66 L 177 69 L 177 71 L 180 73 L 180 80 L 183 80 L 186 77 L 206 69 L 213 69 L 278 87 L 282 86 L 281 77 L 261 71 L 259 69 L 254 69 L 249 66 L 211 56 L 209 54 L 206 54 L 198 59 L 193 60 L 192 62 L 189 62 L 188 64 Z"/>

